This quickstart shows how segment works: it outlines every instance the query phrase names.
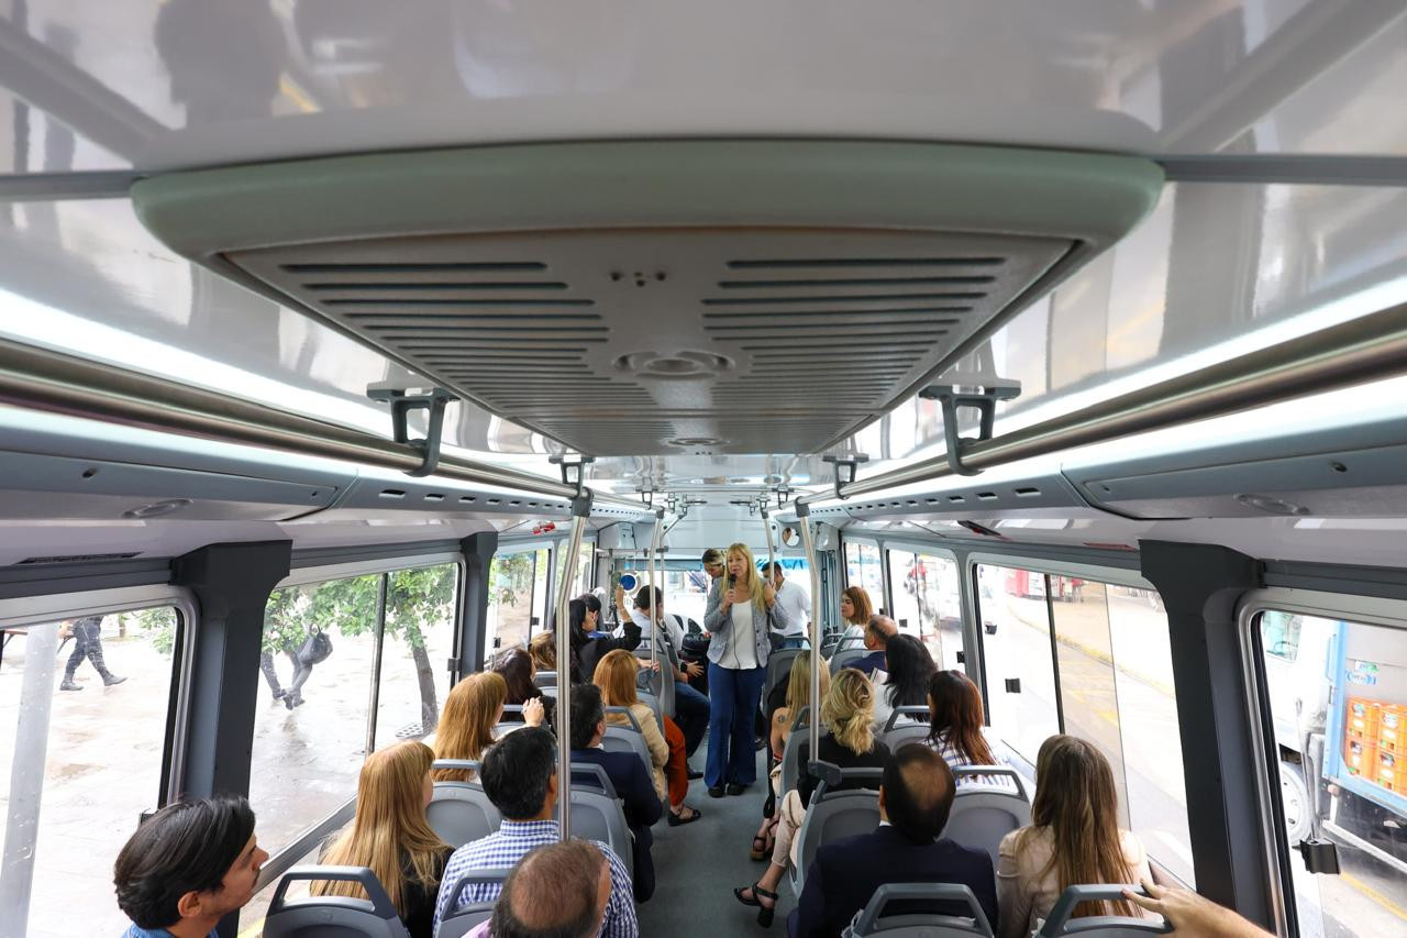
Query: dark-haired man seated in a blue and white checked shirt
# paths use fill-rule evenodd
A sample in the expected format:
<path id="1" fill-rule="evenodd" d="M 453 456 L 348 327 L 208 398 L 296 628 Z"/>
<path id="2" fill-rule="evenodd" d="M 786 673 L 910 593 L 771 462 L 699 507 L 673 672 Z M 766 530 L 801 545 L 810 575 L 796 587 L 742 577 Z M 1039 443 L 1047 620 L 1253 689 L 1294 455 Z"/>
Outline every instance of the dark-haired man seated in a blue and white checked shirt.
<path id="1" fill-rule="evenodd" d="M 454 908 L 449 897 L 460 876 L 499 866 L 514 866 L 539 846 L 561 839 L 557 825 L 557 744 L 540 727 L 509 732 L 484 755 L 481 780 L 484 793 L 504 815 L 502 824 L 488 837 L 464 844 L 449 858 L 435 901 L 435 930 L 440 920 L 464 906 L 491 903 L 502 886 L 476 883 L 464 889 Z M 643 772 L 643 769 L 642 769 Z M 604 938 L 635 938 L 640 927 L 630 899 L 630 875 L 620 858 L 599 841 L 590 841 L 611 865 L 611 900 L 601 927 Z"/>

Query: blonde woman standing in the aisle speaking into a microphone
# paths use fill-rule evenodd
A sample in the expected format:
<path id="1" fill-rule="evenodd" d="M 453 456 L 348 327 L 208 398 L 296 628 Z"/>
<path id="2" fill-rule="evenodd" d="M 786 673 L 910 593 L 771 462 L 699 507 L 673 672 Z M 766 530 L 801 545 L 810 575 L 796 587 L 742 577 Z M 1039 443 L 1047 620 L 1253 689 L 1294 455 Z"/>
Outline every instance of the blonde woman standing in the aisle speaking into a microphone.
<path id="1" fill-rule="evenodd" d="M 708 765 L 704 782 L 709 797 L 741 794 L 757 780 L 757 749 L 753 745 L 753 715 L 767 680 L 771 628 L 791 623 L 777 603 L 777 590 L 757 572 L 746 544 L 727 548 L 727 579 L 718 593 L 709 593 L 704 628 L 712 634 L 708 649 L 709 723 Z"/>

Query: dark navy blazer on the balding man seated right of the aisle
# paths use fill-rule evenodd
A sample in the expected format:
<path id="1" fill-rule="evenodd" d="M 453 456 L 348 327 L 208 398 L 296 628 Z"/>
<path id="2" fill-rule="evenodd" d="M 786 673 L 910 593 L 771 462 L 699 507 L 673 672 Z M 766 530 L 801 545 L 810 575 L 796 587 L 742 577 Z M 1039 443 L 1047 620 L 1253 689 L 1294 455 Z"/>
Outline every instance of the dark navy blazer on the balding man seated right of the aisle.
<path id="1" fill-rule="evenodd" d="M 996 880 L 986 851 L 971 851 L 950 839 L 920 845 L 881 825 L 872 834 L 832 841 L 816 852 L 801 900 L 787 920 L 791 938 L 839 938 L 884 883 L 961 883 L 976 896 L 992 930 L 998 928 Z M 948 903 L 934 908 L 903 903 L 899 911 L 955 915 L 964 910 Z"/>

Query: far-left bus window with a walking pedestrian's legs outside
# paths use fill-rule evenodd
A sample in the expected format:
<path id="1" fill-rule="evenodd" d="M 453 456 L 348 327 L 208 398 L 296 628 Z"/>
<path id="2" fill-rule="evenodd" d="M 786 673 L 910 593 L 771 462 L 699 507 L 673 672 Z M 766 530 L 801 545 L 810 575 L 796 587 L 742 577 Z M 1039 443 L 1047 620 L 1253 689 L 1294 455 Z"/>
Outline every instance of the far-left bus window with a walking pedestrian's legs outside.
<path id="1" fill-rule="evenodd" d="M 180 630 L 176 610 L 159 607 L 0 632 L 0 808 L 15 825 L 4 834 L 0 934 L 25 934 L 24 918 L 31 935 L 72 932 L 55 923 L 127 928 L 113 861 L 142 811 L 165 801 Z"/>

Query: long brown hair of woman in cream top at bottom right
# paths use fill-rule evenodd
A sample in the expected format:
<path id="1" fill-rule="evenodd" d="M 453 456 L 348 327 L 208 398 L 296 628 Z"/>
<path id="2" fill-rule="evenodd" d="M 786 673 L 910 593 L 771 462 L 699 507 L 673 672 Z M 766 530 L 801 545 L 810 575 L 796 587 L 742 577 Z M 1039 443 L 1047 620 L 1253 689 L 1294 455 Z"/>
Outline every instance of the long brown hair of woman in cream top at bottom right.
<path id="1" fill-rule="evenodd" d="M 1054 870 L 1061 892 L 1078 883 L 1135 882 L 1137 870 L 1124 859 L 1119 834 L 1114 773 L 1085 739 L 1057 734 L 1036 753 L 1031 827 L 1019 835 L 1017 852 L 1041 828 L 1050 831 L 1054 846 L 1041 876 Z M 1138 910 L 1123 899 L 1085 901 L 1075 907 L 1075 915 L 1138 915 Z"/>

